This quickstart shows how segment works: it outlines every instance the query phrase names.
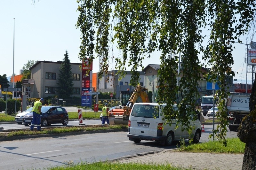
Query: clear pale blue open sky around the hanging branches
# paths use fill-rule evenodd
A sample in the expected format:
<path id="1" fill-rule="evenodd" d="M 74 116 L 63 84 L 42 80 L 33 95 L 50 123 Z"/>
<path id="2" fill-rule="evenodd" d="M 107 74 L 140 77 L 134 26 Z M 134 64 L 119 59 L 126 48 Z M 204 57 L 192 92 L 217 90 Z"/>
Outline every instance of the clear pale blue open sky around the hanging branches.
<path id="1" fill-rule="evenodd" d="M 15 75 L 20 74 L 28 60 L 63 60 L 66 50 L 71 63 L 80 63 L 78 53 L 81 33 L 75 26 L 79 15 L 77 7 L 76 0 L 36 0 L 36 4 L 32 0 L 1 0 L 0 75 L 12 76 L 13 68 Z M 245 36 L 241 40 L 242 43 L 249 43 Z M 235 45 L 232 68 L 238 74 L 233 79 L 245 83 L 246 45 Z M 114 51 L 114 55 L 117 56 L 118 51 Z M 160 54 L 154 53 L 153 56 L 143 60 L 144 67 L 148 64 L 160 64 Z M 110 65 L 115 67 L 112 61 Z M 128 66 L 126 68 L 129 70 Z M 98 71 L 99 60 L 96 58 L 93 61 L 93 73 Z M 248 73 L 247 79 L 248 83 L 251 82 L 251 73 Z"/>

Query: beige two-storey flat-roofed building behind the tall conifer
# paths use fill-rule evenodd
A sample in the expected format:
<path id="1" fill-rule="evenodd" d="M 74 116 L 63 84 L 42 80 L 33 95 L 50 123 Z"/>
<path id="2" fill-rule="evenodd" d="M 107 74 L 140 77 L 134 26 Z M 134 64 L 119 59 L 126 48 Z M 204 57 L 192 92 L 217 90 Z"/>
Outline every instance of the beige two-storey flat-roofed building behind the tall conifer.
<path id="1" fill-rule="evenodd" d="M 30 93 L 32 98 L 56 97 L 60 65 L 62 61 L 38 61 L 30 67 L 31 79 L 22 81 L 22 92 Z M 71 63 L 73 76 L 73 95 L 81 97 L 81 63 Z"/>

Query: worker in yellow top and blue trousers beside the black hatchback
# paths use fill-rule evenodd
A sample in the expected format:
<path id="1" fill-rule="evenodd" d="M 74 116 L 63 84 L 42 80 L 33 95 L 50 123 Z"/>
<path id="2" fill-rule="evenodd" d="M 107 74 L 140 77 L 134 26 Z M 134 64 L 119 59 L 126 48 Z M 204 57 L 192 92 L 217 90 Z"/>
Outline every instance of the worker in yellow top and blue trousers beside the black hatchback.
<path id="1" fill-rule="evenodd" d="M 40 100 L 36 101 L 34 104 L 34 107 L 32 109 L 33 119 L 31 122 L 30 130 L 34 130 L 35 124 L 37 126 L 37 130 L 38 131 L 41 130 L 41 114 L 42 114 L 41 108 L 43 103 L 44 103 L 44 99 L 40 98 Z"/>

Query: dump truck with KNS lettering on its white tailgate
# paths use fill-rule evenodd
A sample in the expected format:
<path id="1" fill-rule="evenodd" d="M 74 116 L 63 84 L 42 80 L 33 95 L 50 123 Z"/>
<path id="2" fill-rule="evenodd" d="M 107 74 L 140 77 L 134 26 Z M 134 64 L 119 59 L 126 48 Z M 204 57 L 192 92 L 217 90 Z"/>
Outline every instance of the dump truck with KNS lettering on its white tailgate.
<path id="1" fill-rule="evenodd" d="M 243 118 L 250 113 L 249 100 L 251 93 L 231 93 L 227 100 L 227 109 L 230 112 L 229 130 L 237 131 Z"/>

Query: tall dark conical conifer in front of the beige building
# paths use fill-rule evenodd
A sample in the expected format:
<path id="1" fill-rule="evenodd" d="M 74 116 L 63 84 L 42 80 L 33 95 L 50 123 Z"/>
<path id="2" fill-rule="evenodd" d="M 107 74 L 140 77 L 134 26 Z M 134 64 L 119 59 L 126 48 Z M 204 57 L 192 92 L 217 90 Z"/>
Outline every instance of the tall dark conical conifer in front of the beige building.
<path id="1" fill-rule="evenodd" d="M 68 51 L 64 54 L 62 63 L 60 64 L 60 74 L 58 78 L 57 92 L 60 98 L 67 99 L 73 94 L 73 76 L 71 71 L 71 63 L 68 59 Z"/>

